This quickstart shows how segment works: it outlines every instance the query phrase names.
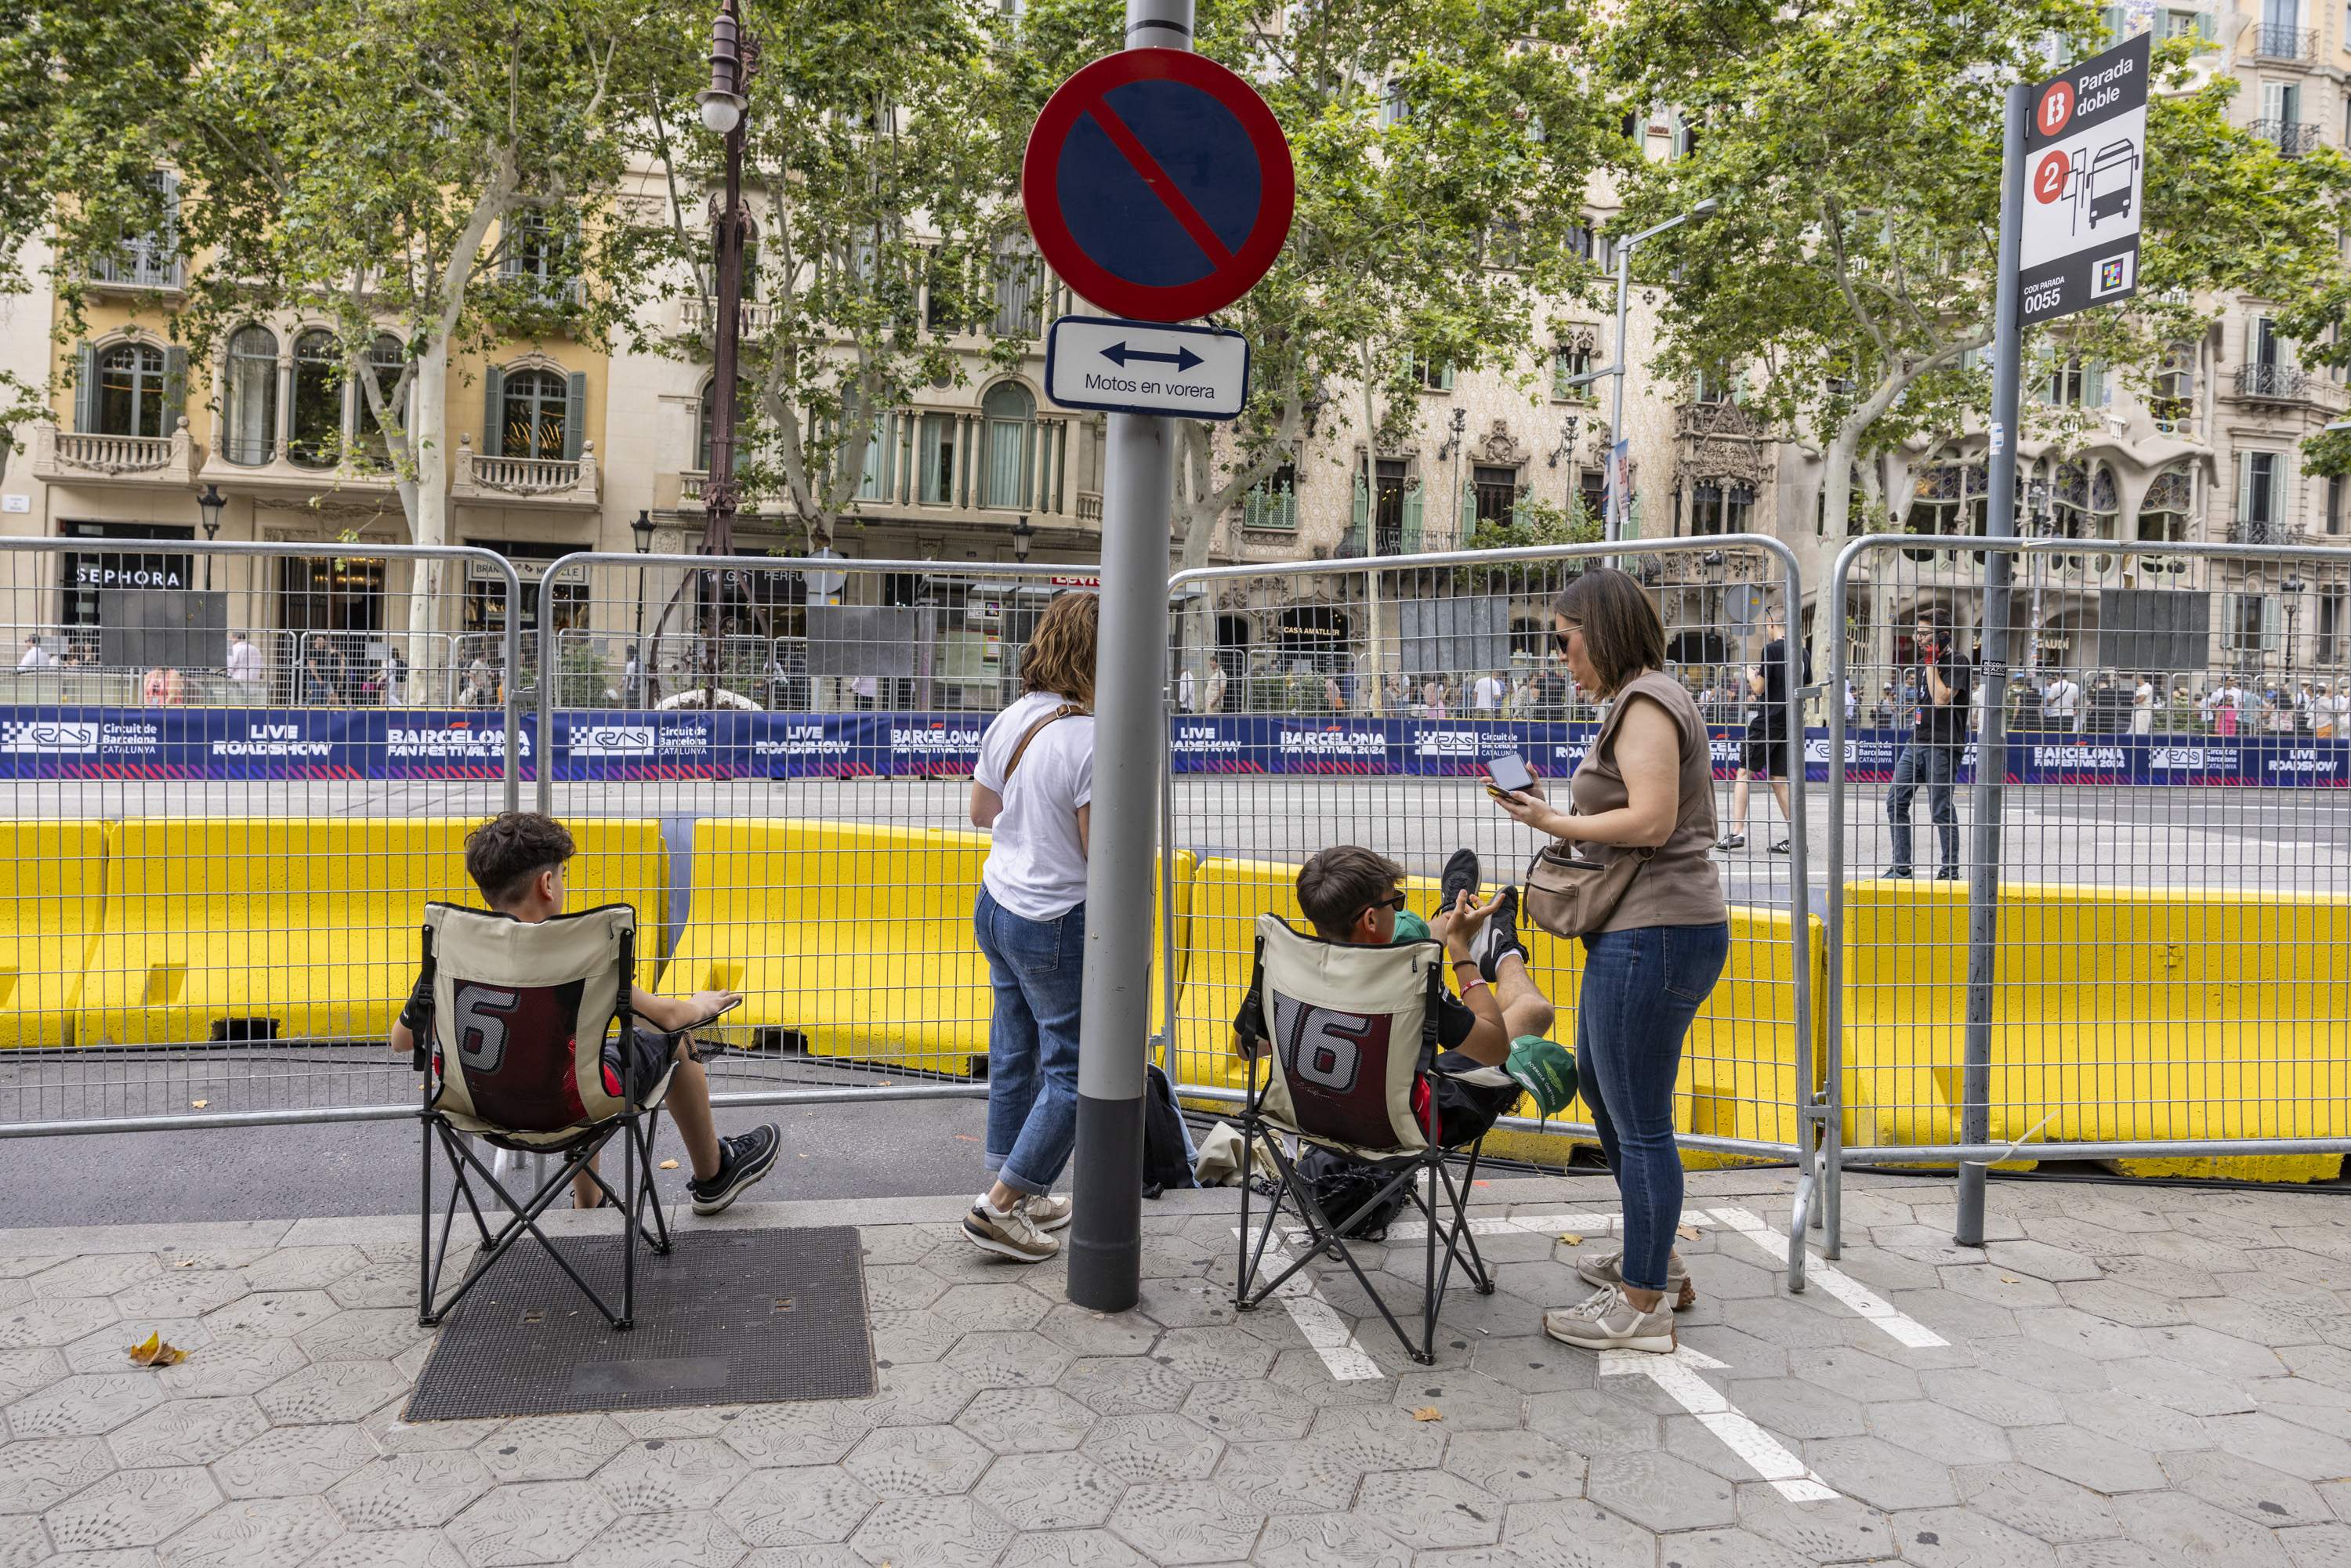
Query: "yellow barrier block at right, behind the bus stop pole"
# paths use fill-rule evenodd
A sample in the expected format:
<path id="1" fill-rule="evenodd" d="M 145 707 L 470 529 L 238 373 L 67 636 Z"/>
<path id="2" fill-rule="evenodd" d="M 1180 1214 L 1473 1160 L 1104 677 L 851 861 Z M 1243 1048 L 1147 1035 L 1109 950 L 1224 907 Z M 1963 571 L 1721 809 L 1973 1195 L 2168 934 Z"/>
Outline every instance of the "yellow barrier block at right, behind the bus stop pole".
<path id="1" fill-rule="evenodd" d="M 2344 1135 L 2346 947 L 2327 898 L 2003 886 L 1991 1135 Z M 1965 1009 L 1968 889 L 1848 886 L 1848 1140 L 1956 1138 Z"/>

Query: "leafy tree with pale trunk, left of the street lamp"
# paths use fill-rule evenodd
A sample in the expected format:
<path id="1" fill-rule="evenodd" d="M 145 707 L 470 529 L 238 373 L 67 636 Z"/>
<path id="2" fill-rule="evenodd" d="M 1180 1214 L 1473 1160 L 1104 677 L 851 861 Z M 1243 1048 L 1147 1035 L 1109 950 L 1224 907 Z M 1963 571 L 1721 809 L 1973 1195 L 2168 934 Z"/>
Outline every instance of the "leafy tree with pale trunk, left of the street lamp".
<path id="1" fill-rule="evenodd" d="M 691 92 L 708 19 L 635 0 L 237 0 L 174 146 L 190 341 L 254 308 L 339 322 L 418 545 L 449 543 L 451 364 L 496 339 L 595 341 L 632 310 L 611 219 L 656 99 Z M 397 367 L 369 350 L 400 341 Z M 440 562 L 418 564 L 423 637 Z M 423 665 L 423 646 L 411 649 Z"/>

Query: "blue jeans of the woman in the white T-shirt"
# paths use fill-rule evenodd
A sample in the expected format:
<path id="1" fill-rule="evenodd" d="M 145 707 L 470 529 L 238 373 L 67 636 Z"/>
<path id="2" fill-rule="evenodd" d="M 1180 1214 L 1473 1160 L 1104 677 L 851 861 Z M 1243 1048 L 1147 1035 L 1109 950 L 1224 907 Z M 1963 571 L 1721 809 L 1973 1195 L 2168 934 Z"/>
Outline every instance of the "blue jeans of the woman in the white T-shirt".
<path id="1" fill-rule="evenodd" d="M 987 1020 L 987 1175 L 1051 1192 L 1077 1145 L 1077 1001 L 1086 905 L 1023 919 L 987 889 L 971 912 L 997 1006 Z"/>

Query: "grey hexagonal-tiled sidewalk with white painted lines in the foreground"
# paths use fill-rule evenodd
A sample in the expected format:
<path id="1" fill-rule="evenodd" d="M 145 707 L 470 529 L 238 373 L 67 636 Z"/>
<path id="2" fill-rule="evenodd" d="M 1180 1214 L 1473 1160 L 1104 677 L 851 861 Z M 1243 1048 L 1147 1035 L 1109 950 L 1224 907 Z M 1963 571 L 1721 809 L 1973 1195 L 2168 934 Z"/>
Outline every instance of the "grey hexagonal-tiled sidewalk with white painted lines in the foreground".
<path id="1" fill-rule="evenodd" d="M 1853 1175 L 1789 1298 L 1787 1190 L 1693 1178 L 1660 1359 L 1540 1338 L 1603 1180 L 1483 1185 L 1434 1368 L 1335 1265 L 1237 1316 L 1230 1192 L 1145 1206 L 1124 1316 L 959 1199 L 743 1206 L 863 1227 L 879 1396 L 449 1425 L 400 1422 L 409 1218 L 0 1232 L 0 1568 L 2351 1563 L 2339 1192 L 1996 1182 L 1963 1251 L 1949 1182 Z"/>

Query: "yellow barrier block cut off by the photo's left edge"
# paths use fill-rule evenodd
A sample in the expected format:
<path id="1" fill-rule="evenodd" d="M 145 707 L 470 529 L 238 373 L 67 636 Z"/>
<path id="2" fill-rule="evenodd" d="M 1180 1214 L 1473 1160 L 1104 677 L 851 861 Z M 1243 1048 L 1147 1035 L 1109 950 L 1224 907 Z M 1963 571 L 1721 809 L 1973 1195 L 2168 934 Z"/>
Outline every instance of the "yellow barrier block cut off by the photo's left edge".
<path id="1" fill-rule="evenodd" d="M 103 820 L 0 823 L 0 1048 L 73 1044 L 103 905 Z"/>

